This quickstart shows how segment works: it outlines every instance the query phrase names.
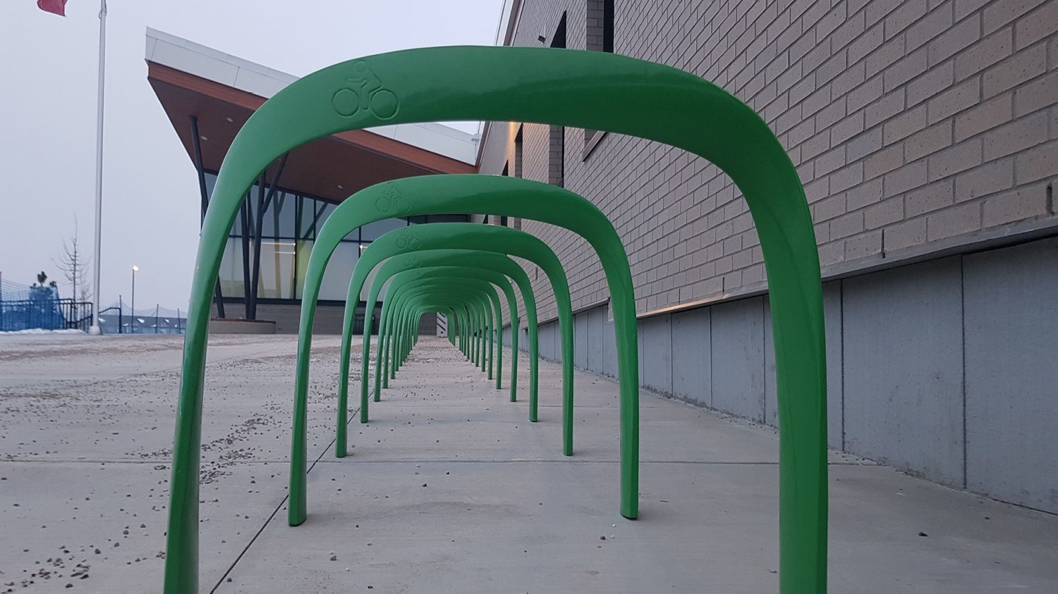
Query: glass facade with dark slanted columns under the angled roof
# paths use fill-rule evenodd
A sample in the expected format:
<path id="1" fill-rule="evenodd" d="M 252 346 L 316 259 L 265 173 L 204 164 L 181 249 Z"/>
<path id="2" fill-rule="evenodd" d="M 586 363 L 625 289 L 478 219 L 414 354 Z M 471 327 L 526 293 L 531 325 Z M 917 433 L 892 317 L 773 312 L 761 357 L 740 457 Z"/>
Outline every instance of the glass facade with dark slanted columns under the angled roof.
<path id="1" fill-rule="evenodd" d="M 217 177 L 206 173 L 206 189 L 212 194 Z M 257 185 L 250 190 L 250 204 L 257 206 Z M 278 189 L 264 209 L 261 224 L 260 277 L 257 282 L 257 298 L 261 300 L 298 300 L 305 284 L 305 272 L 309 265 L 309 253 L 315 241 L 316 231 L 327 217 L 334 211 L 335 204 L 287 189 Z M 256 220 L 256 212 L 254 212 Z M 393 229 L 420 223 L 466 222 L 466 215 L 430 215 L 408 219 L 386 219 L 353 229 L 345 236 L 331 256 L 324 273 L 320 299 L 344 301 L 349 289 L 352 267 L 361 252 L 383 234 Z M 253 221 L 251 222 L 251 228 Z M 224 257 L 220 263 L 220 290 L 223 296 L 243 298 L 245 277 L 243 276 L 243 226 L 241 211 L 235 218 L 229 234 Z M 254 238 L 250 234 L 245 242 L 249 261 L 253 262 Z M 251 264 L 252 266 L 252 264 Z M 363 301 L 370 287 L 370 278 L 360 296 Z"/>

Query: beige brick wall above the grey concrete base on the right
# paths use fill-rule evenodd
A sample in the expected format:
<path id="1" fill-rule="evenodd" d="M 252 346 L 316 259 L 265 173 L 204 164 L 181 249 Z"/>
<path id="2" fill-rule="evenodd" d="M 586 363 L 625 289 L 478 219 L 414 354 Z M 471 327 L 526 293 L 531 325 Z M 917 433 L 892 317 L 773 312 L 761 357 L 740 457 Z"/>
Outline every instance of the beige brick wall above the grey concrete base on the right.
<path id="1" fill-rule="evenodd" d="M 567 45 L 585 48 L 588 4 L 525 0 L 514 44 L 549 42 L 566 12 Z M 1058 224 L 1056 31 L 1058 0 L 617 0 L 615 51 L 693 72 L 762 114 L 805 184 L 825 274 Z M 516 130 L 491 126 L 482 172 L 514 170 Z M 524 127 L 527 179 L 552 179 L 548 132 Z M 618 134 L 586 159 L 582 130 L 564 144 L 565 187 L 617 227 L 640 313 L 761 287 L 752 219 L 716 167 Z M 585 242 L 523 228 L 559 254 L 574 309 L 606 300 Z M 541 313 L 555 315 L 550 297 Z"/>

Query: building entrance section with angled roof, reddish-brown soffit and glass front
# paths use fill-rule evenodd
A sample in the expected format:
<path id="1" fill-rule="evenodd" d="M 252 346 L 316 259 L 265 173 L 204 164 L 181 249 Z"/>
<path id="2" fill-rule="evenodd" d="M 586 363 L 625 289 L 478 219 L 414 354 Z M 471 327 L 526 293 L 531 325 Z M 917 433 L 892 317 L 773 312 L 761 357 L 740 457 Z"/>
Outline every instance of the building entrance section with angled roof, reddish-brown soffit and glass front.
<path id="1" fill-rule="evenodd" d="M 235 134 L 296 77 L 152 29 L 147 30 L 146 60 L 150 86 L 199 171 L 204 214 Z M 274 320 L 277 332 L 297 332 L 308 255 L 316 230 L 341 201 L 387 180 L 474 172 L 476 156 L 476 135 L 441 124 L 342 132 L 294 149 L 251 189 L 232 227 L 215 315 Z M 341 331 L 352 266 L 372 240 L 403 225 L 467 220 L 443 215 L 390 219 L 346 236 L 324 277 L 317 332 Z"/>

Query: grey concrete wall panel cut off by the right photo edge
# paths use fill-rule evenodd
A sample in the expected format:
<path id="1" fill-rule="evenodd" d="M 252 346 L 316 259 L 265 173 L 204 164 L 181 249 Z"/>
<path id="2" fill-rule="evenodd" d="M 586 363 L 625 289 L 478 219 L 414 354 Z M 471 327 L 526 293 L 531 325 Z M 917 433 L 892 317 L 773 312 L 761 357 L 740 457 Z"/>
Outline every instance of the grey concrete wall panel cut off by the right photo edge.
<path id="1" fill-rule="evenodd" d="M 966 486 L 1058 513 L 1058 239 L 967 256 Z"/>

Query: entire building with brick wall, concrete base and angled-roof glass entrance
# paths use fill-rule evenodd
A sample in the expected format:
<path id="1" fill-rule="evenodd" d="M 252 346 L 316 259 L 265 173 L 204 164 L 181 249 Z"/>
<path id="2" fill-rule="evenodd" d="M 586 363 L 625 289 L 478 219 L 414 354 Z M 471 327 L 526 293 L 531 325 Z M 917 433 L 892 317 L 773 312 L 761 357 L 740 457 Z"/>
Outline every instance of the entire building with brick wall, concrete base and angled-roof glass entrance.
<path id="1" fill-rule="evenodd" d="M 797 167 L 815 222 L 829 445 L 1058 513 L 1055 22 L 1044 0 L 506 0 L 496 42 L 664 63 L 753 108 Z M 157 32 L 148 61 L 189 157 L 201 145 L 205 186 L 239 125 L 291 80 Z M 279 185 L 304 206 L 269 236 L 269 299 L 296 302 L 310 222 L 382 178 L 478 171 L 558 184 L 599 206 L 624 242 L 642 385 L 778 425 L 760 242 L 738 188 L 705 160 L 605 131 L 493 122 L 480 141 L 435 125 L 338 134 L 295 150 L 287 167 Z M 573 363 L 615 375 L 609 295 L 587 244 L 533 221 L 488 222 L 555 250 L 569 275 Z M 221 276 L 232 303 L 243 286 L 240 229 Z M 341 298 L 357 242 L 377 236 L 360 234 L 325 297 Z M 544 275 L 530 278 L 541 353 L 559 359 L 553 297 Z"/>

